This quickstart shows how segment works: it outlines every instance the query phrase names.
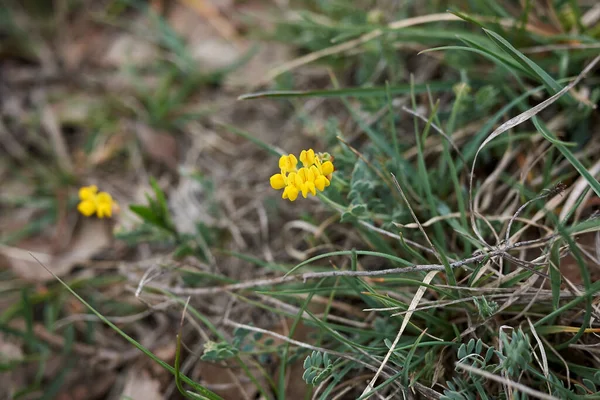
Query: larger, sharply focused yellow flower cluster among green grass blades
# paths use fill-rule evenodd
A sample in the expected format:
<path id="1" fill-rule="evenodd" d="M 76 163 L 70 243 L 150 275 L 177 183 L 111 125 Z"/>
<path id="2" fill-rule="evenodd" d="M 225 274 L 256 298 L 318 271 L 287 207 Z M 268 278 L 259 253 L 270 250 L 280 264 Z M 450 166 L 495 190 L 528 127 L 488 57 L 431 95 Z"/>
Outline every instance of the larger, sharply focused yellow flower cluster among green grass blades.
<path id="1" fill-rule="evenodd" d="M 333 173 L 332 158 L 328 153 L 315 154 L 313 149 L 302 150 L 300 162 L 302 168 L 297 169 L 298 159 L 293 154 L 279 158 L 281 173 L 271 177 L 271 187 L 283 189 L 281 195 L 284 199 L 294 201 L 298 194 L 306 198 L 308 194 L 315 196 L 317 190 L 323 191 L 329 186 Z"/>

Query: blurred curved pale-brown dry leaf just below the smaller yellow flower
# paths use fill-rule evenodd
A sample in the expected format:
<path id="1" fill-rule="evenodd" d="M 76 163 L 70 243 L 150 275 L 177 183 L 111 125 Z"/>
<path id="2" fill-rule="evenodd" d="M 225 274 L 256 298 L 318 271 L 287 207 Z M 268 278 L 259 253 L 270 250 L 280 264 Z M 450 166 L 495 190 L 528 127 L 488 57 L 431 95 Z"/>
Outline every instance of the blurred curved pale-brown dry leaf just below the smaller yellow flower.
<path id="1" fill-rule="evenodd" d="M 50 238 L 37 237 L 21 241 L 18 247 L 0 246 L 0 255 L 6 258 L 6 263 L 16 275 L 29 281 L 45 282 L 53 279 L 29 252 L 53 273 L 59 277 L 64 276 L 75 265 L 88 261 L 108 246 L 112 239 L 111 220 L 82 217 L 80 222 L 68 245 L 60 252 L 53 252 Z"/>

